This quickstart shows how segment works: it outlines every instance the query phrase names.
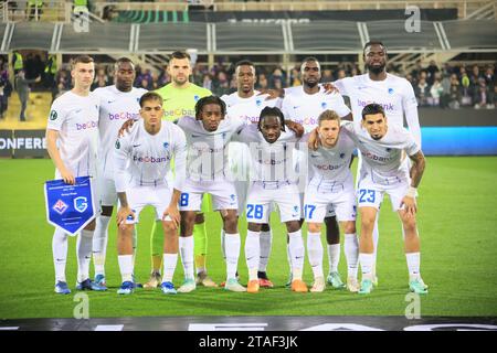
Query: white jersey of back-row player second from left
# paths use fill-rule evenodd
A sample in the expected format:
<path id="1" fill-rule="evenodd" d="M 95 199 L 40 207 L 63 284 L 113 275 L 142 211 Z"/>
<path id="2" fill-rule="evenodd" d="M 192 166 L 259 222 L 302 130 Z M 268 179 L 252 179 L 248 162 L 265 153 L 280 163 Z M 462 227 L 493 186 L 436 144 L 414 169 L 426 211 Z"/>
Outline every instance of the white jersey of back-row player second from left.
<path id="1" fill-rule="evenodd" d="M 114 176 L 114 145 L 117 135 L 126 120 L 140 118 L 140 98 L 147 89 L 133 87 L 130 92 L 120 92 L 115 85 L 96 88 L 93 92 L 101 99 L 98 118 L 98 163 L 102 165 L 106 179 Z"/>

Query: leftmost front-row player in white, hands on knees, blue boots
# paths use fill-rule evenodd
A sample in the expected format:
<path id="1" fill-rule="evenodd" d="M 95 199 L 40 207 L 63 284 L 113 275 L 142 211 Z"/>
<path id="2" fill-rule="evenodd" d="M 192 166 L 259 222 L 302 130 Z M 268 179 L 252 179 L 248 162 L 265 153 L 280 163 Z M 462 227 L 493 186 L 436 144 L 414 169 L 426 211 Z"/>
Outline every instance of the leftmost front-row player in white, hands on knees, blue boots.
<path id="1" fill-rule="evenodd" d="M 117 252 L 123 277 L 117 292 L 129 295 L 135 288 L 133 232 L 141 210 L 151 205 L 156 210 L 156 220 L 162 220 L 165 233 L 162 292 L 175 295 L 172 276 L 178 261 L 180 224 L 178 202 L 184 180 L 187 142 L 179 127 L 162 121 L 162 98 L 158 94 L 142 95 L 140 107 L 142 119 L 116 141 L 114 150 L 114 176 L 120 203 L 117 212 Z M 168 185 L 166 179 L 172 158 L 176 163 L 173 186 Z M 126 175 L 130 175 L 129 181 Z"/>

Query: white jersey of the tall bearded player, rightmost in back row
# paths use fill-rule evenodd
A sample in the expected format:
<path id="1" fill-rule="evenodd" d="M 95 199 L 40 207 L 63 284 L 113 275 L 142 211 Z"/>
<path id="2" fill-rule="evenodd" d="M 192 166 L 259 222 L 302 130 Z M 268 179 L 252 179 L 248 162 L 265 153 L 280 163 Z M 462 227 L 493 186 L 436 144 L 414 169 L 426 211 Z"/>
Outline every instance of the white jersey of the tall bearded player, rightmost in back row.
<path id="1" fill-rule="evenodd" d="M 403 77 L 387 74 L 384 81 L 372 81 L 369 74 L 337 79 L 332 83 L 341 95 L 350 98 L 353 121 L 362 119 L 362 109 L 371 103 L 383 107 L 389 126 L 404 126 L 404 113 L 416 109 L 417 100 L 412 85 Z M 416 141 L 421 141 L 419 127 L 409 126 Z"/>

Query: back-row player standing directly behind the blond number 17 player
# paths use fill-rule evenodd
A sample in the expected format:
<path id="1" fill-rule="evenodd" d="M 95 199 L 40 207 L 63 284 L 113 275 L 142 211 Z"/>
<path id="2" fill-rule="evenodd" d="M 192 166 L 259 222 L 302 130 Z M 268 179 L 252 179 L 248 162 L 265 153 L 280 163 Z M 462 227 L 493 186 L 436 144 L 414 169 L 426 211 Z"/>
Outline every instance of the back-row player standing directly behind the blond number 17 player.
<path id="1" fill-rule="evenodd" d="M 327 109 L 336 111 L 340 118 L 351 119 L 350 109 L 346 106 L 340 94 L 327 94 L 324 89 L 320 89 L 318 84 L 321 79 L 321 67 L 316 57 L 306 57 L 303 61 L 300 75 L 303 86 L 287 90 L 283 99 L 282 110 L 286 119 L 302 124 L 306 132 L 317 127 L 319 115 Z M 300 153 L 298 156 L 300 159 L 306 159 Z M 313 169 L 309 172 L 309 176 L 311 176 Z M 304 195 L 302 200 L 304 201 Z M 345 285 L 338 272 L 340 232 L 331 205 L 325 216 L 325 223 L 329 261 L 327 281 L 334 288 L 343 288 Z"/>

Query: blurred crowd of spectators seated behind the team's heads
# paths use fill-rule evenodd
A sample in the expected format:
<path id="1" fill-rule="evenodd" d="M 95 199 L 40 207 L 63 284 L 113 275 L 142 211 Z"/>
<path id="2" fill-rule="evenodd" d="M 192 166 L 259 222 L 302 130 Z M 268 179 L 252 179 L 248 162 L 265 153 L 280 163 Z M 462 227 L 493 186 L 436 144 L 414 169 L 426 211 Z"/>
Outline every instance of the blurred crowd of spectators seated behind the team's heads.
<path id="1" fill-rule="evenodd" d="M 199 86 L 209 88 L 215 95 L 230 94 L 236 90 L 234 76 L 234 63 L 215 63 L 209 67 L 205 63 L 195 63 L 193 66 L 192 82 Z M 47 69 L 47 62 L 40 55 L 29 54 L 24 58 L 25 79 L 42 77 L 30 84 L 34 90 L 50 90 L 53 99 L 62 93 L 71 89 L 71 72 L 68 65 L 61 69 Z M 114 83 L 113 64 L 97 64 L 93 89 Z M 400 66 L 389 64 L 388 72 L 405 77 L 413 86 L 414 94 L 421 107 L 440 107 L 458 109 L 461 107 L 474 107 L 476 109 L 494 109 L 497 101 L 497 88 L 494 64 L 444 64 L 438 67 L 435 62 L 422 65 L 421 62 L 411 72 L 404 72 Z M 295 65 L 289 72 L 281 65 L 257 65 L 256 88 L 284 88 L 302 85 L 299 65 Z M 338 78 L 361 74 L 355 63 L 343 63 L 336 66 L 321 68 L 321 82 L 332 82 Z M 15 90 L 9 79 L 9 63 L 7 56 L 0 56 L 0 115 L 3 116 L 8 108 L 8 100 Z M 149 90 L 160 88 L 169 83 L 166 66 L 160 71 L 137 66 L 136 87 Z"/>

